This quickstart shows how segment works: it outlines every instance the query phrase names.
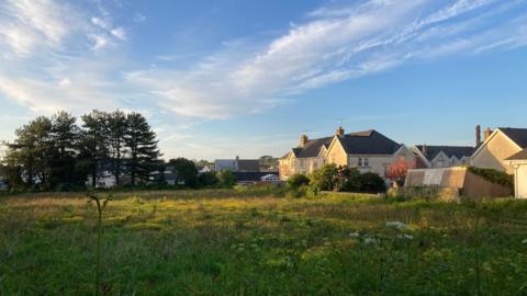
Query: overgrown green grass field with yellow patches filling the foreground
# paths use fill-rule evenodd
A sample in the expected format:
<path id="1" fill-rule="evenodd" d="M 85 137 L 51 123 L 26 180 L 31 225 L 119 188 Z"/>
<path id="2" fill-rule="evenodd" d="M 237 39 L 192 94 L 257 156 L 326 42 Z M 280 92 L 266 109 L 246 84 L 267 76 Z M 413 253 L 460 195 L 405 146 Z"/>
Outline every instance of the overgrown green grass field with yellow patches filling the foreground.
<path id="1" fill-rule="evenodd" d="M 103 295 L 527 295 L 527 203 L 128 192 L 104 209 Z M 0 198 L 0 295 L 93 295 L 83 194 Z"/>

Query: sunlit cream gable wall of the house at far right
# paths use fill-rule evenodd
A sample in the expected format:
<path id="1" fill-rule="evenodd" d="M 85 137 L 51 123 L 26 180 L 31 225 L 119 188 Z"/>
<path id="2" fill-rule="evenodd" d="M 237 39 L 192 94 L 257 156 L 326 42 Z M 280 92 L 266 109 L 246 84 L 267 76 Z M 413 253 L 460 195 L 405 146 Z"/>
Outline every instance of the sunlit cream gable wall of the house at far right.
<path id="1" fill-rule="evenodd" d="M 520 150 L 507 136 L 497 132 L 472 158 L 471 163 L 478 168 L 495 169 L 512 174 L 513 168 L 503 161 Z"/>

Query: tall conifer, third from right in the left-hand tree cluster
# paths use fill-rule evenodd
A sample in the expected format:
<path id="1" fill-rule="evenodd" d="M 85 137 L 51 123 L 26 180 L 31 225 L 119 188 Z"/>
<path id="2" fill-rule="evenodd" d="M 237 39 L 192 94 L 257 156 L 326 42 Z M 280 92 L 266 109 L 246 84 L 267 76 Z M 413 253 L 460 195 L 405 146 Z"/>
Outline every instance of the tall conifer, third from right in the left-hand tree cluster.
<path id="1" fill-rule="evenodd" d="M 108 113 L 93 110 L 81 118 L 79 169 L 90 171 L 91 185 L 96 187 L 100 167 L 110 157 Z"/>

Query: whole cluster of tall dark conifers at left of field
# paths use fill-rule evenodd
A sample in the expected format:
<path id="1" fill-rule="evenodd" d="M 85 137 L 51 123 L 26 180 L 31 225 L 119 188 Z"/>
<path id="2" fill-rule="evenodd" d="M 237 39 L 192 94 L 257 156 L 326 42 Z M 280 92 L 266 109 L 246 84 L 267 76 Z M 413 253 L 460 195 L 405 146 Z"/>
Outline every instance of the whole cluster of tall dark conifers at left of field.
<path id="1" fill-rule="evenodd" d="M 80 124 L 78 124 L 78 122 Z M 97 185 L 109 171 L 120 185 L 144 184 L 158 168 L 156 134 L 141 113 L 92 111 L 80 116 L 60 111 L 38 116 L 15 130 L 2 163 L 10 189 L 68 190 Z"/>

